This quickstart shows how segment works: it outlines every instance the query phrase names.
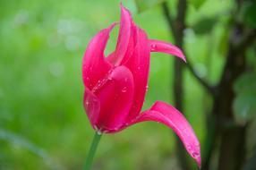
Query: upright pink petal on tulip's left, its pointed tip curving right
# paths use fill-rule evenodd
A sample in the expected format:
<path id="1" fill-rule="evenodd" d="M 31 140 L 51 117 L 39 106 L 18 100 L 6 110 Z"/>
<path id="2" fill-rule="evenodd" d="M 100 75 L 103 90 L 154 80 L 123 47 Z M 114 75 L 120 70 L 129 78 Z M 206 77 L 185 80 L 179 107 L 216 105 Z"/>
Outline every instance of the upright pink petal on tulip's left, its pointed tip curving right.
<path id="1" fill-rule="evenodd" d="M 97 81 L 104 77 L 111 69 L 104 58 L 104 50 L 107 45 L 110 31 L 116 23 L 111 24 L 107 29 L 100 30 L 98 34 L 90 40 L 86 52 L 82 59 L 82 80 L 86 87 L 92 89 Z"/>

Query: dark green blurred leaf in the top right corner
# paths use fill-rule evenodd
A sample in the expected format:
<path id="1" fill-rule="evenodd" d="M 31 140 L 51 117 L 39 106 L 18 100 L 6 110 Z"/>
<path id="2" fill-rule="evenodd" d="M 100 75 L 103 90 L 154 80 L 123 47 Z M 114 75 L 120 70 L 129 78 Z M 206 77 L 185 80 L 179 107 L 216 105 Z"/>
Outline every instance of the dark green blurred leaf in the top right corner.
<path id="1" fill-rule="evenodd" d="M 244 3 L 242 21 L 250 28 L 256 29 L 256 2 Z"/>

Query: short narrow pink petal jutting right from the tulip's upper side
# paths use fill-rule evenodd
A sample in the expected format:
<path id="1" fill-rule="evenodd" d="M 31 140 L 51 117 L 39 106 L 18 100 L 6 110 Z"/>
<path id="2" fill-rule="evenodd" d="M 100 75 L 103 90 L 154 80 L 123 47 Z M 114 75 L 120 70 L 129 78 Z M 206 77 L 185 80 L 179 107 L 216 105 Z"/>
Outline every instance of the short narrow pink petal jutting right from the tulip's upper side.
<path id="1" fill-rule="evenodd" d="M 186 62 L 186 58 L 183 55 L 182 50 L 180 48 L 175 47 L 174 45 L 170 43 L 166 43 L 164 41 L 156 40 L 156 39 L 150 39 L 150 51 L 151 52 L 162 52 L 170 55 L 176 55 L 183 59 L 184 62 Z"/>

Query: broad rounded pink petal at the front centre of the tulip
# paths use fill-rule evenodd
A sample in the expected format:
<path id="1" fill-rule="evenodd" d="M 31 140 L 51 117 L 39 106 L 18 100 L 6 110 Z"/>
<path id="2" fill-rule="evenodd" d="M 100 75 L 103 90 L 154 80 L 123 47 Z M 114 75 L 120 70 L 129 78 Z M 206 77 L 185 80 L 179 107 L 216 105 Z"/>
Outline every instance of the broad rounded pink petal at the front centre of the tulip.
<path id="1" fill-rule="evenodd" d="M 132 72 L 125 66 L 118 66 L 109 72 L 106 79 L 92 89 L 100 102 L 98 129 L 117 131 L 124 125 L 132 106 L 134 82 Z"/>

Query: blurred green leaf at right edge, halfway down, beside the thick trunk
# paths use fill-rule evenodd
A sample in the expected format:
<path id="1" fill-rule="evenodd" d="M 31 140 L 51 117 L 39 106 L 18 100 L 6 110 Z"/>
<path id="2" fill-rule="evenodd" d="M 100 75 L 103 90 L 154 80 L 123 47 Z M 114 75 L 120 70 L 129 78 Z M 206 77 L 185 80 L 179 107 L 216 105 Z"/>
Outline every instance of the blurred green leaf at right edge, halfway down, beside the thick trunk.
<path id="1" fill-rule="evenodd" d="M 256 115 L 256 73 L 244 73 L 234 85 L 236 97 L 233 103 L 235 121 L 247 123 Z"/>

